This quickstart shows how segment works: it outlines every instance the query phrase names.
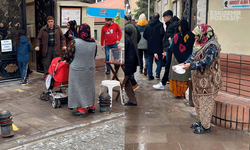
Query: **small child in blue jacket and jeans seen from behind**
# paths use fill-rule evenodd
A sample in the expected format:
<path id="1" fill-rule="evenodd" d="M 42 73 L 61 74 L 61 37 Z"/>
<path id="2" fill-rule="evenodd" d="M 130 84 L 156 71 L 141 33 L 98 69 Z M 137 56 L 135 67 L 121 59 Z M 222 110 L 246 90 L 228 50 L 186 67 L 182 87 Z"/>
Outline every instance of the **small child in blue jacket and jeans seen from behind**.
<path id="1" fill-rule="evenodd" d="M 20 74 L 22 77 L 22 85 L 28 84 L 27 69 L 30 61 L 29 52 L 33 50 L 30 39 L 24 31 L 20 31 L 17 35 L 14 51 L 17 52 L 17 61 Z"/>

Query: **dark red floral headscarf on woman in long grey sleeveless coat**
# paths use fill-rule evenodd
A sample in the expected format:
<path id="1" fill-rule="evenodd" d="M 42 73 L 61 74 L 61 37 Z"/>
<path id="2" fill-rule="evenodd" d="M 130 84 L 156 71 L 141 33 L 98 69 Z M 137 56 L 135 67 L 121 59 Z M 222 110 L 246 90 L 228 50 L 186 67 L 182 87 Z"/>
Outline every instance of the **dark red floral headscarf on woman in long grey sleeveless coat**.
<path id="1" fill-rule="evenodd" d="M 95 42 L 94 39 L 91 38 L 90 27 L 88 24 L 83 23 L 79 28 L 79 38 L 83 39 L 87 42 Z"/>

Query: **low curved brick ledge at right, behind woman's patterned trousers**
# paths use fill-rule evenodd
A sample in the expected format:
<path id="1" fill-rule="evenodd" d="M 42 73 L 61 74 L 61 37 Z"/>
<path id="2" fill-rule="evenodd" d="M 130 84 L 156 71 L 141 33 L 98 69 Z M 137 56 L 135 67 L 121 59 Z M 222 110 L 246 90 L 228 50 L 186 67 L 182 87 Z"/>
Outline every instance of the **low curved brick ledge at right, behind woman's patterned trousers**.
<path id="1" fill-rule="evenodd" d="M 250 98 L 219 92 L 211 123 L 231 129 L 250 132 Z"/>

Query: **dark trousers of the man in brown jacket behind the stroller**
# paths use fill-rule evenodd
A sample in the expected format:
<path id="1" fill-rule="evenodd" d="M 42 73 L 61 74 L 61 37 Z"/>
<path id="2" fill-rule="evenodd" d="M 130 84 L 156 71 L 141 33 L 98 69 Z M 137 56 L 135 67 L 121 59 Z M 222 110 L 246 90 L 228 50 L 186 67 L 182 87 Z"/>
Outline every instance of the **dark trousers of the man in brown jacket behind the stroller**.
<path id="1" fill-rule="evenodd" d="M 50 63 L 51 63 L 52 59 L 54 59 L 55 57 L 59 57 L 59 55 L 55 54 L 54 47 L 48 46 L 47 55 L 46 55 L 46 57 L 43 58 L 44 78 L 46 78 L 46 75 L 48 74 L 48 69 L 49 69 Z"/>

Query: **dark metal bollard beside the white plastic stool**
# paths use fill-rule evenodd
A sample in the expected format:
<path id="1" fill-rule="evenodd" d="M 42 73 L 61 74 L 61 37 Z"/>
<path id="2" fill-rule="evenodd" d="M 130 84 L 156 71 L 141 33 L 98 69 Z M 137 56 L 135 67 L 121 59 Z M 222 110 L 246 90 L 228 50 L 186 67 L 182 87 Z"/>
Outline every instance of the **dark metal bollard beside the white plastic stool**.
<path id="1" fill-rule="evenodd" d="M 111 97 L 108 93 L 101 93 L 99 96 L 100 112 L 110 112 Z"/>

